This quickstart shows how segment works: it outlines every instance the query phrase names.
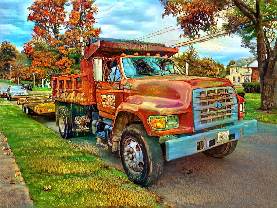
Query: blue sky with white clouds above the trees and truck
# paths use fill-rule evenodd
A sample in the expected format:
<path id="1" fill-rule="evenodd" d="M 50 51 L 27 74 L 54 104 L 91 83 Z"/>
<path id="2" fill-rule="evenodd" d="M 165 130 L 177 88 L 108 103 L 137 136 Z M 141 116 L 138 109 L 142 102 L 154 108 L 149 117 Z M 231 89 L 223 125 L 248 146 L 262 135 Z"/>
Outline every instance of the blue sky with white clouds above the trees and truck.
<path id="1" fill-rule="evenodd" d="M 23 43 L 32 38 L 31 29 L 34 24 L 27 21 L 29 14 L 27 7 L 32 3 L 33 0 L 0 1 L 1 42 L 7 39 L 21 51 Z M 136 39 L 176 25 L 174 17 L 161 18 L 163 7 L 159 0 L 96 0 L 96 4 L 98 5 L 96 16 L 98 23 L 95 27 L 101 27 L 100 37 Z M 65 9 L 70 12 L 71 7 L 66 6 Z M 176 26 L 170 27 L 167 30 L 174 30 L 143 39 L 143 41 L 164 43 L 167 46 L 186 41 L 184 38 L 179 38 L 182 30 L 176 28 Z M 221 37 L 194 44 L 194 47 L 201 57 L 210 56 L 226 65 L 231 59 L 237 60 L 252 56 L 248 49 L 240 47 L 240 41 L 239 36 Z M 187 48 L 181 47 L 179 51 L 182 52 Z"/>

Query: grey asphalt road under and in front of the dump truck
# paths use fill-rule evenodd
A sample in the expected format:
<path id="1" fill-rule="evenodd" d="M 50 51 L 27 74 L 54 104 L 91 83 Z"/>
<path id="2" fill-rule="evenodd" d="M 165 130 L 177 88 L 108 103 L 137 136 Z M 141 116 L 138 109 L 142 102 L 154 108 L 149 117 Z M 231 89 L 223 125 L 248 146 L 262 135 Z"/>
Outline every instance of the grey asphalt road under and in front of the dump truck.
<path id="1" fill-rule="evenodd" d="M 34 118 L 58 131 L 55 116 Z M 96 147 L 93 135 L 71 140 L 123 171 L 118 154 Z M 198 153 L 166 161 L 149 189 L 174 207 L 277 207 L 277 125 L 259 122 L 257 133 L 223 158 Z"/>

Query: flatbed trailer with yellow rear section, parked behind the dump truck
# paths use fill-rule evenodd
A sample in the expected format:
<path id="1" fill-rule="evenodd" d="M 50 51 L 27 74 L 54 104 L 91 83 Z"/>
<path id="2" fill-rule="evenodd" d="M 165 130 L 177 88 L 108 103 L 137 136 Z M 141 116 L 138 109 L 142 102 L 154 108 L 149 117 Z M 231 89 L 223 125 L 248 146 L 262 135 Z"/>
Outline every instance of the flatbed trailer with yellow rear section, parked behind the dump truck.
<path id="1" fill-rule="evenodd" d="M 55 104 L 52 102 L 52 94 L 27 95 L 17 100 L 17 105 L 22 105 L 22 111 L 30 114 L 55 113 Z"/>

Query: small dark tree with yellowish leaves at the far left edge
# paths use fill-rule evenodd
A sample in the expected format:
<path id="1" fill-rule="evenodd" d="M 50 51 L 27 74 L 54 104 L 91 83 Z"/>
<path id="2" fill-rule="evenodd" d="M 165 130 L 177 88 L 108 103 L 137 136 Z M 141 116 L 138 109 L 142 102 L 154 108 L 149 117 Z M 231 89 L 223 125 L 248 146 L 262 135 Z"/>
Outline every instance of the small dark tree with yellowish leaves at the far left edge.
<path id="1" fill-rule="evenodd" d="M 17 53 L 18 51 L 15 45 L 9 43 L 7 40 L 4 40 L 0 44 L 0 62 L 2 62 L 4 68 L 8 68 L 9 61 L 14 60 Z"/>

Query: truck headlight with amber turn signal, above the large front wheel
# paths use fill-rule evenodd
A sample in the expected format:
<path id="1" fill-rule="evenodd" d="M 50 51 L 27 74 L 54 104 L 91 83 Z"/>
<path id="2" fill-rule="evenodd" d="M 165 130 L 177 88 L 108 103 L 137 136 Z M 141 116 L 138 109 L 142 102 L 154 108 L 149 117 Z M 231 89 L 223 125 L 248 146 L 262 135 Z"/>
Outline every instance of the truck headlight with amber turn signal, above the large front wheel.
<path id="1" fill-rule="evenodd" d="M 178 115 L 167 115 L 167 116 L 149 116 L 149 123 L 152 129 L 157 131 L 174 129 L 179 127 Z"/>

